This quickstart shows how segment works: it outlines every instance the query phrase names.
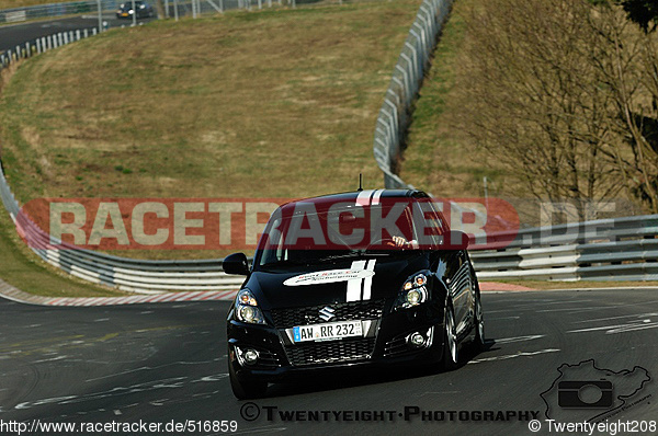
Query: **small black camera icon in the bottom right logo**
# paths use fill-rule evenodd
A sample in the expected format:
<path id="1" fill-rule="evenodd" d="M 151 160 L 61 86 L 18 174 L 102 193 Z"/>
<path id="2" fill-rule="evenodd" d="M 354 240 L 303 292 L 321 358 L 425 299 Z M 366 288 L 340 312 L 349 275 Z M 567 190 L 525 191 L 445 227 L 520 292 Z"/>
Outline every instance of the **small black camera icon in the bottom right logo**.
<path id="1" fill-rule="evenodd" d="M 563 409 L 610 409 L 612 394 L 612 382 L 604 379 L 557 383 L 557 405 Z"/>

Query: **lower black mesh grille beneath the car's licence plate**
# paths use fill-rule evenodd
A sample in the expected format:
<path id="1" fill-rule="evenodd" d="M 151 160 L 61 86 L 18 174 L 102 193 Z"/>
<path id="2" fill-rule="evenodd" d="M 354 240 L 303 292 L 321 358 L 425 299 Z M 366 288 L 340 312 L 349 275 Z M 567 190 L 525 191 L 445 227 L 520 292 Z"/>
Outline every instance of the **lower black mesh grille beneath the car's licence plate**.
<path id="1" fill-rule="evenodd" d="M 291 364 L 295 366 L 364 360 L 372 356 L 375 339 L 313 342 L 286 346 Z"/>

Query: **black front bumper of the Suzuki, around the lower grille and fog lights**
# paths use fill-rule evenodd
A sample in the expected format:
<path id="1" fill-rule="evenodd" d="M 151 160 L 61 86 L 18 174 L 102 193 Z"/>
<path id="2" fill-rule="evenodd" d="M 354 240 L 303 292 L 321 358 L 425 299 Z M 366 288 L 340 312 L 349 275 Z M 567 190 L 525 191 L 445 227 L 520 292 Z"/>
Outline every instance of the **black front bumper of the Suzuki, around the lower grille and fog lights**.
<path id="1" fill-rule="evenodd" d="M 428 302 L 397 311 L 386 306 L 378 319 L 362 320 L 366 321 L 364 325 L 370 325 L 364 329 L 364 337 L 337 341 L 295 344 L 286 332 L 288 325 L 277 329 L 229 320 L 229 365 L 243 380 L 280 381 L 318 371 L 440 360 L 443 355 L 442 305 Z M 412 333 L 423 335 L 426 341 L 421 346 L 409 343 Z M 247 364 L 240 357 L 246 349 L 258 353 L 256 363 Z"/>

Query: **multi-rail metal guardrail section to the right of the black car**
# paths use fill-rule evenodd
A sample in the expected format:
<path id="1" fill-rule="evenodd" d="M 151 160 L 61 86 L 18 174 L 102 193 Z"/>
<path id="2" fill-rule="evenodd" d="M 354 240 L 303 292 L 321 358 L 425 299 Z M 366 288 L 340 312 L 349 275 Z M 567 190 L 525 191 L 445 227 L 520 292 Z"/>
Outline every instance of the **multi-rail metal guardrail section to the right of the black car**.
<path id="1" fill-rule="evenodd" d="M 658 215 L 525 229 L 470 257 L 480 279 L 658 280 Z"/>

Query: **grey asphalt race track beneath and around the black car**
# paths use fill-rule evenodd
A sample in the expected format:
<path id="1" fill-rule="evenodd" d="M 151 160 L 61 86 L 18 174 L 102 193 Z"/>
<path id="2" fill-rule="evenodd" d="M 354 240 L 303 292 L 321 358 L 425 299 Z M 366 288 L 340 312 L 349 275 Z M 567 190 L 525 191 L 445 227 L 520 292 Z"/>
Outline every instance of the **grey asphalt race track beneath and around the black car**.
<path id="1" fill-rule="evenodd" d="M 455 371 L 408 367 L 273 385 L 254 405 L 230 392 L 227 302 L 49 308 L 1 299 L 0 421 L 141 420 L 164 426 L 228 420 L 237 422 L 239 434 L 531 434 L 527 418 L 473 421 L 478 416 L 474 412 L 494 411 L 500 417 L 498 412 L 535 411 L 544 423 L 547 408 L 540 394 L 559 377 L 557 368 L 588 359 L 615 372 L 639 366 L 654 378 L 638 383 L 639 392 L 628 403 L 642 401 L 611 420 L 658 420 L 656 290 L 485 294 L 483 303 L 488 349 L 467 355 Z M 621 393 L 615 375 L 605 376 L 612 376 L 606 378 Z M 585 377 L 597 380 L 599 374 Z M 413 406 L 427 412 L 426 420 L 443 418 L 423 422 L 420 412 L 407 409 L 405 421 L 405 408 Z M 266 408 L 276 408 L 270 409 L 272 420 Z M 245 420 L 241 411 L 256 418 Z M 341 414 L 344 420 L 338 422 L 333 415 L 322 423 L 290 422 L 281 411 L 352 415 Z M 364 422 L 372 411 L 392 420 Z M 460 412 L 468 421 L 460 421 Z M 350 416 L 363 420 L 348 421 Z M 545 425 L 540 434 L 549 434 Z"/>

